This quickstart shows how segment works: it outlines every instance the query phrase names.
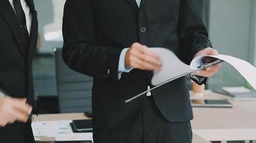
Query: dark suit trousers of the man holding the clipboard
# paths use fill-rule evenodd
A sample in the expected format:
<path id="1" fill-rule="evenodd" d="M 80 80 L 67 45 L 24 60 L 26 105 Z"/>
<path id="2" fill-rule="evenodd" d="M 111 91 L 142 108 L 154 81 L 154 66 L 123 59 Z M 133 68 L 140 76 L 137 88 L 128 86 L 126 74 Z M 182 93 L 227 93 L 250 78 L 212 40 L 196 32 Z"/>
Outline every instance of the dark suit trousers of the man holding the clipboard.
<path id="1" fill-rule="evenodd" d="M 128 129 L 93 129 L 94 143 L 191 143 L 190 122 L 168 122 L 147 97 L 142 114 Z"/>

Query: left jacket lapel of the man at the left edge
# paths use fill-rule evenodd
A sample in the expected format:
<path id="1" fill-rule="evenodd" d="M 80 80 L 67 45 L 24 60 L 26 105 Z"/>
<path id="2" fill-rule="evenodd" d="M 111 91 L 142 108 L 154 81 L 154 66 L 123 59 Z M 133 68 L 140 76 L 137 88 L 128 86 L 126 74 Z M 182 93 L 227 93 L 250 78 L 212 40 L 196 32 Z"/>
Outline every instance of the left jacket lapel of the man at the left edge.
<path id="1" fill-rule="evenodd" d="M 14 9 L 12 9 L 12 6 L 8 0 L 0 0 L 0 14 L 4 17 L 6 23 L 9 25 L 10 29 L 12 30 L 14 38 L 16 39 L 19 47 L 19 51 L 23 55 L 22 41 L 21 41 L 22 34 L 20 32 L 19 21 L 14 12 Z"/>

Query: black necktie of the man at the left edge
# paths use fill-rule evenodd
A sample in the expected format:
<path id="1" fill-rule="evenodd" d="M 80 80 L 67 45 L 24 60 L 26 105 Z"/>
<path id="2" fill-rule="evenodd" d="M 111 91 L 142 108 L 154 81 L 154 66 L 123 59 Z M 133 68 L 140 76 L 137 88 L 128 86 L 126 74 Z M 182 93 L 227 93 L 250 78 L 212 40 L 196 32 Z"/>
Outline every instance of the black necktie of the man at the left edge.
<path id="1" fill-rule="evenodd" d="M 22 50 L 24 54 L 26 54 L 29 44 L 29 33 L 27 31 L 26 16 L 22 9 L 22 3 L 20 0 L 14 0 L 14 9 L 16 11 L 17 19 L 19 20 L 20 31 L 22 33 Z"/>

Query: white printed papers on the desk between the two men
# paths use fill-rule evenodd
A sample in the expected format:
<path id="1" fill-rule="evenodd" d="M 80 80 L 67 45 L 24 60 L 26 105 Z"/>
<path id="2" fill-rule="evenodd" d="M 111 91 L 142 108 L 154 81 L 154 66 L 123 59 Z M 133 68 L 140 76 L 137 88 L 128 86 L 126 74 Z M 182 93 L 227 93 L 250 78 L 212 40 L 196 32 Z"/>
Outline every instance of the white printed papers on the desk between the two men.
<path id="1" fill-rule="evenodd" d="M 71 120 L 32 122 L 33 134 L 35 137 L 55 138 L 56 141 L 92 141 L 93 133 L 73 133 Z"/>

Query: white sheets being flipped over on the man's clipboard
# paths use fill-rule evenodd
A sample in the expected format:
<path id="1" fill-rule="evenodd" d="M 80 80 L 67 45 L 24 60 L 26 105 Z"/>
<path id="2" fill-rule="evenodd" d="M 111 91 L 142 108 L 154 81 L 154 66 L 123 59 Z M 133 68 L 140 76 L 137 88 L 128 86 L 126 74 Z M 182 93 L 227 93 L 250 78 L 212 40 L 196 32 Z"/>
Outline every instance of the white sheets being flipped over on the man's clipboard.
<path id="1" fill-rule="evenodd" d="M 152 85 L 162 84 L 174 77 L 180 77 L 180 75 L 186 75 L 191 73 L 191 71 L 196 71 L 198 66 L 200 66 L 200 59 L 202 56 L 198 56 L 191 62 L 191 65 L 184 64 L 180 59 L 178 59 L 172 51 L 164 48 L 150 48 L 156 54 L 160 56 L 162 60 L 162 69 L 160 71 L 154 71 L 151 83 Z M 209 56 L 209 55 L 207 55 Z M 224 54 L 219 54 L 217 56 L 211 56 L 216 59 L 221 59 L 231 64 L 239 73 L 244 77 L 244 79 L 249 82 L 254 89 L 256 89 L 256 68 L 252 66 L 247 61 L 235 58 L 233 56 L 227 56 Z"/>

